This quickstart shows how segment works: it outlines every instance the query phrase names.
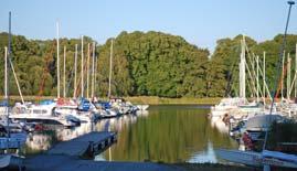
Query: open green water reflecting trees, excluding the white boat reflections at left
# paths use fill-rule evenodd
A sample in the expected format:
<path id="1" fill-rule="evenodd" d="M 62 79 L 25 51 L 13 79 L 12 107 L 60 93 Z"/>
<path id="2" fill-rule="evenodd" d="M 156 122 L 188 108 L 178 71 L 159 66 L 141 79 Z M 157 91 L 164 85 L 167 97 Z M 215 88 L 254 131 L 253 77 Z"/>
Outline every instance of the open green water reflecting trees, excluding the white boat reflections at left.
<path id="1" fill-rule="evenodd" d="M 112 148 L 113 160 L 216 162 L 212 149 L 236 148 L 236 142 L 211 127 L 208 113 L 195 106 L 156 106 L 147 118 L 123 128 Z"/>

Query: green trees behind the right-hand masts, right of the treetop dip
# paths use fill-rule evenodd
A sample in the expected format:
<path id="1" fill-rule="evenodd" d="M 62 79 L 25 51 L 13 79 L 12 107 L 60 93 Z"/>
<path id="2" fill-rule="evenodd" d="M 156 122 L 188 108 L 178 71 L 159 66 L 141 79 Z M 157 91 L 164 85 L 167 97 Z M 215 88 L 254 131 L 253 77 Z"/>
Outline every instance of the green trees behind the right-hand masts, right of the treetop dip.
<path id="1" fill-rule="evenodd" d="M 238 94 L 238 63 L 241 55 L 241 40 L 242 35 L 237 35 L 234 39 L 222 39 L 216 43 L 215 51 L 209 62 L 208 66 L 208 96 L 210 97 L 222 97 L 225 96 L 225 90 L 227 88 L 227 82 L 231 81 L 231 92 L 230 95 L 236 96 Z M 247 83 L 246 90 L 247 95 L 252 94 L 252 86 L 256 86 L 252 84 L 255 82 L 255 75 L 253 76 L 253 72 L 256 71 L 256 62 L 253 56 L 258 55 L 259 67 L 263 67 L 263 53 L 265 52 L 265 81 L 269 88 L 269 93 L 272 94 L 275 85 L 276 75 L 279 70 L 276 70 L 277 62 L 279 58 L 280 45 L 283 43 L 283 35 L 276 35 L 273 40 L 257 43 L 253 39 L 245 36 L 245 42 L 248 47 L 248 52 L 246 52 L 246 61 L 250 64 L 250 72 L 252 73 L 250 76 L 248 72 L 246 72 Z M 287 35 L 287 46 L 285 49 L 285 53 L 290 53 L 291 61 L 291 81 L 295 74 L 295 54 L 296 54 L 296 43 L 297 35 L 289 34 Z M 287 58 L 285 60 L 286 64 Z M 282 70 L 282 68 L 280 68 Z M 256 72 L 255 72 L 256 73 Z M 264 77 L 259 73 L 259 84 L 263 86 L 262 79 Z M 286 77 L 285 77 L 286 78 Z M 253 79 L 253 81 L 251 81 Z M 250 84 L 250 85 L 248 85 Z M 278 83 L 277 83 L 278 84 Z M 286 84 L 286 79 L 285 83 Z M 286 92 L 286 87 L 285 87 Z M 267 95 L 267 93 L 266 93 Z M 255 95 L 254 95 L 255 96 Z"/>

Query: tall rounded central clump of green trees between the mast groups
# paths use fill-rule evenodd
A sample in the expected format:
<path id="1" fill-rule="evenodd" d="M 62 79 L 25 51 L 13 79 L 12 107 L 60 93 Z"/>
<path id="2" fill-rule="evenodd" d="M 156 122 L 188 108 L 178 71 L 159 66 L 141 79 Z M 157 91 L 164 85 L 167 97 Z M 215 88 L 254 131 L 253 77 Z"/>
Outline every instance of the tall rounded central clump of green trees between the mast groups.
<path id="1" fill-rule="evenodd" d="M 110 40 L 99 49 L 99 83 L 108 79 Z M 181 97 L 205 95 L 209 52 L 180 36 L 123 32 L 115 40 L 113 94 Z M 106 84 L 99 84 L 100 92 Z"/>

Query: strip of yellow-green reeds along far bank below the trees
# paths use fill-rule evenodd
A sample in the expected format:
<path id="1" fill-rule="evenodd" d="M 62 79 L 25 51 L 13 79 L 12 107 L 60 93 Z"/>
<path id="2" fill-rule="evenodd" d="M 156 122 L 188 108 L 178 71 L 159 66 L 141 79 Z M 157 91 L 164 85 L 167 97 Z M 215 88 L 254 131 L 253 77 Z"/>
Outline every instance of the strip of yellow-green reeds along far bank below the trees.
<path id="1" fill-rule="evenodd" d="M 23 96 L 25 101 L 35 101 L 44 99 L 54 99 L 55 96 Z M 181 97 L 181 98 L 168 98 L 168 97 L 158 97 L 158 96 L 129 96 L 123 97 L 132 104 L 146 104 L 146 105 L 215 105 L 220 101 L 222 97 Z M 3 96 L 0 96 L 0 99 L 3 99 Z M 20 96 L 10 96 L 11 100 L 21 101 Z M 106 97 L 103 99 L 107 99 Z"/>

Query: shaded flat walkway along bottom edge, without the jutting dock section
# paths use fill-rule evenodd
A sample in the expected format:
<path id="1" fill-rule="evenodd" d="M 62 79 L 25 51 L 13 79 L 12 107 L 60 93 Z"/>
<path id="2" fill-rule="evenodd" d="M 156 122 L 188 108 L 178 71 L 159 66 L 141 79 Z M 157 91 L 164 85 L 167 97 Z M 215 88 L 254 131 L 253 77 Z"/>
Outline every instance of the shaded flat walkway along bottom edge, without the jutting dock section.
<path id="1" fill-rule="evenodd" d="M 94 161 L 66 156 L 39 156 L 25 161 L 30 171 L 180 171 L 181 168 L 152 162 Z"/>

